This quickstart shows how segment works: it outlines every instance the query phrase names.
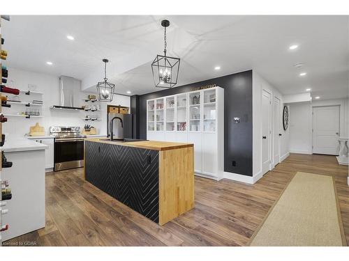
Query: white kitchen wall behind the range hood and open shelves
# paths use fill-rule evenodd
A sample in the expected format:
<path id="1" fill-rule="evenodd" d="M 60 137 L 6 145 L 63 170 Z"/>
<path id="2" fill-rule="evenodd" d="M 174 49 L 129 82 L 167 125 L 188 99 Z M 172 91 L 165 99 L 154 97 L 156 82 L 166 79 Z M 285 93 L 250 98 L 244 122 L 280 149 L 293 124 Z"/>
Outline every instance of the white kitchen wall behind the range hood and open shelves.
<path id="1" fill-rule="evenodd" d="M 113 101 L 111 103 L 100 102 L 101 111 L 95 112 L 97 116 L 101 118 L 100 121 L 85 121 L 82 120 L 86 116 L 85 111 L 65 111 L 65 110 L 53 110 L 50 109 L 52 105 L 59 105 L 59 77 L 42 74 L 38 72 L 29 72 L 26 70 L 20 70 L 15 68 L 8 68 L 8 85 L 13 81 L 13 87 L 19 88 L 21 90 L 27 90 L 28 84 L 34 84 L 37 86 L 36 91 L 43 92 L 44 95 L 36 95 L 35 98 L 43 97 L 43 118 L 20 118 L 20 117 L 9 117 L 8 122 L 3 125 L 3 133 L 12 136 L 24 136 L 29 132 L 29 127 L 35 125 L 39 122 L 40 125 L 45 127 L 45 132 L 48 134 L 50 126 L 80 126 L 84 127 L 85 124 L 92 125 L 97 128 L 98 134 L 107 133 L 106 124 L 106 108 L 107 104 L 130 106 L 130 97 L 124 95 L 114 95 Z M 77 92 L 77 97 L 75 97 L 76 104 L 74 106 L 82 106 L 87 104 L 82 99 L 87 97 L 91 93 L 83 93 L 81 91 Z M 30 98 L 34 98 L 30 97 Z M 25 111 L 20 105 L 12 105 L 11 108 L 3 107 L 2 113 L 13 113 L 15 111 Z M 91 113 L 88 113 L 91 114 Z"/>

